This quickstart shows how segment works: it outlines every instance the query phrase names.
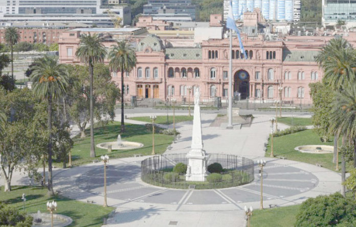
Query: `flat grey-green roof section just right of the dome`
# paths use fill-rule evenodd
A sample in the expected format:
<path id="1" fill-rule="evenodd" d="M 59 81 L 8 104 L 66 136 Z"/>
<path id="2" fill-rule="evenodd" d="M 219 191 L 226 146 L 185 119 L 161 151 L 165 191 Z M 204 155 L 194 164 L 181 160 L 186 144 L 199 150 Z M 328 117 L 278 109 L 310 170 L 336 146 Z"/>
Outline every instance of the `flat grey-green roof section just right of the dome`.
<path id="1" fill-rule="evenodd" d="M 166 59 L 199 60 L 202 48 L 166 48 Z"/>

